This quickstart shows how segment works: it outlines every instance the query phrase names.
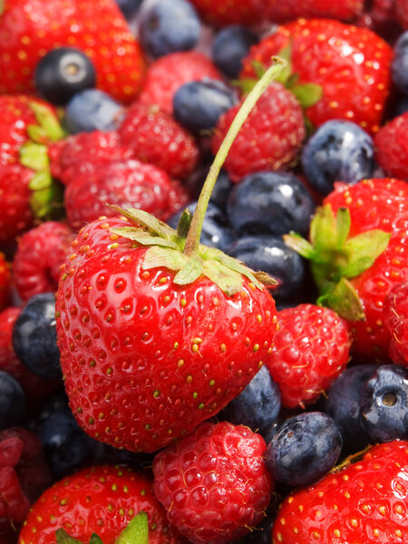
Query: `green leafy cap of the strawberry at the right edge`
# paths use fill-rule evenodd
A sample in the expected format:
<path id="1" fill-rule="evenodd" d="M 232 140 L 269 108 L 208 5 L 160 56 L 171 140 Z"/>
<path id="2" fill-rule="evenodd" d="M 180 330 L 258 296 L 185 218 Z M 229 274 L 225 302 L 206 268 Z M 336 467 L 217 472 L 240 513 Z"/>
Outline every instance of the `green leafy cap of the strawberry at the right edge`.
<path id="1" fill-rule="evenodd" d="M 329 205 L 316 210 L 310 225 L 309 240 L 295 232 L 284 236 L 287 246 L 310 261 L 320 296 L 317 304 L 329 306 L 349 321 L 365 318 L 364 306 L 351 283 L 372 267 L 387 248 L 391 234 L 380 229 L 367 230 L 349 237 L 350 211 Z"/>

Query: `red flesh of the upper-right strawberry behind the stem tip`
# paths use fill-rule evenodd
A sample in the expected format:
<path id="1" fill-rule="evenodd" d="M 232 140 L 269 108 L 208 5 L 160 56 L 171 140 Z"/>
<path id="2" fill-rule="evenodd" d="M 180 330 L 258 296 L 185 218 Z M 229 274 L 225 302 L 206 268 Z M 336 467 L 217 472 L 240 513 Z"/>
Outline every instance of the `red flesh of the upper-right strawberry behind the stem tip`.
<path id="1" fill-rule="evenodd" d="M 306 109 L 314 125 L 345 119 L 368 132 L 378 131 L 390 91 L 390 45 L 366 28 L 331 19 L 298 19 L 254 45 L 241 76 L 253 77 L 254 63 L 267 66 L 271 56 L 288 46 L 297 83 L 315 83 L 323 91 Z"/>

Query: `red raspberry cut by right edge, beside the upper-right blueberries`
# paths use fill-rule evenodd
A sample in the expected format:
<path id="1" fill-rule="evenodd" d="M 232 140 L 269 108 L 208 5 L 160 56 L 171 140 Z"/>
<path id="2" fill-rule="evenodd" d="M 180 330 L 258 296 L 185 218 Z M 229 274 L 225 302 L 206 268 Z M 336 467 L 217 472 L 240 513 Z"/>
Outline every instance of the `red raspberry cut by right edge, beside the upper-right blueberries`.
<path id="1" fill-rule="evenodd" d="M 384 172 L 408 181 L 408 112 L 384 125 L 374 138 L 375 160 Z"/>

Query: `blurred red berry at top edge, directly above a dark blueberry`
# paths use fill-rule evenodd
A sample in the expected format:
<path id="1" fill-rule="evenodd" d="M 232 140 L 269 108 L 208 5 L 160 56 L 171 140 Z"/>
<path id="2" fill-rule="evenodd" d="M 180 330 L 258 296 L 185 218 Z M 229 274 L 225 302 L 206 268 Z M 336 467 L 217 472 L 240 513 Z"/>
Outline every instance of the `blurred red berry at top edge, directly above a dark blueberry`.
<path id="1" fill-rule="evenodd" d="M 257 24 L 264 17 L 263 0 L 191 0 L 199 14 L 216 26 Z"/>

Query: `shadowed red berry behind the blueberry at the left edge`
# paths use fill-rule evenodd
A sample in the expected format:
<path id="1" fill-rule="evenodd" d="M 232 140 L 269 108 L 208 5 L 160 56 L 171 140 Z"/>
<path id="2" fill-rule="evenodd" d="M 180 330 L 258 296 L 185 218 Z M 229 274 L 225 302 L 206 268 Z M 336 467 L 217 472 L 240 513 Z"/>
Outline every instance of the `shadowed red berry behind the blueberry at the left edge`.
<path id="1" fill-rule="evenodd" d="M 20 362 L 12 344 L 13 326 L 21 308 L 10 306 L 0 312 L 0 370 L 11 374 L 22 386 L 28 401 L 43 398 L 55 390 L 59 382 L 45 380 L 30 372 Z"/>

